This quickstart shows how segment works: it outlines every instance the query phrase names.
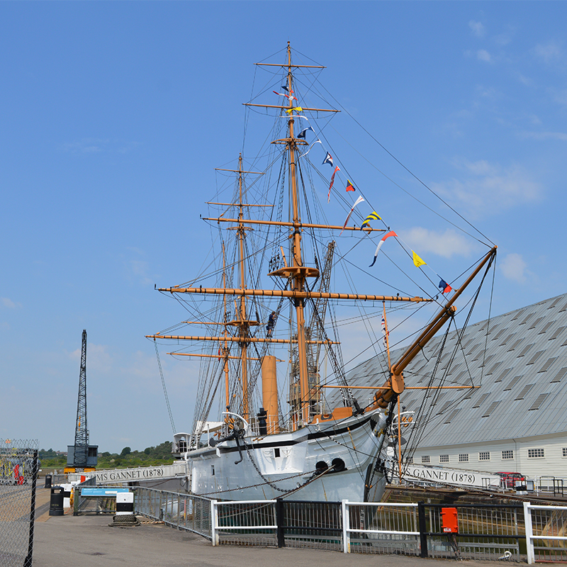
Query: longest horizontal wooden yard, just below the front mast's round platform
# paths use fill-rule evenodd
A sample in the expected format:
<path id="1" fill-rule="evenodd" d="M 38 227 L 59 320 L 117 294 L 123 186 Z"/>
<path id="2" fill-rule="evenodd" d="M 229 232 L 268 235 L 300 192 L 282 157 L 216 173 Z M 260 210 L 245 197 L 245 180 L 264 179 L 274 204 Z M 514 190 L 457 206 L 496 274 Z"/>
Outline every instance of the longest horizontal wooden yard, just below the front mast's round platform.
<path id="1" fill-rule="evenodd" d="M 158 288 L 158 291 L 169 293 L 212 293 L 217 296 L 264 296 L 287 297 L 291 299 L 354 299 L 356 301 L 420 301 L 430 302 L 432 299 L 422 297 L 373 296 L 367 293 L 332 293 L 328 291 L 295 291 L 286 289 L 240 289 L 240 288 Z"/>

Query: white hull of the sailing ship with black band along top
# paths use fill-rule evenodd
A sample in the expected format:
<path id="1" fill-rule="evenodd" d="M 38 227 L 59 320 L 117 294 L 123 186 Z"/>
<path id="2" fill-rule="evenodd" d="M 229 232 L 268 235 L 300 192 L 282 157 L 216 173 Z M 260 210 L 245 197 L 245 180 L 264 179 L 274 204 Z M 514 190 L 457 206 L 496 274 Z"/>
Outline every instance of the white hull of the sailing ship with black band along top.
<path id="1" fill-rule="evenodd" d="M 317 422 L 290 433 L 225 440 L 184 454 L 190 490 L 222 500 L 378 502 L 386 478 L 376 466 L 380 410 Z M 325 470 L 325 467 L 327 469 Z M 325 472 L 323 472 L 325 471 Z"/>

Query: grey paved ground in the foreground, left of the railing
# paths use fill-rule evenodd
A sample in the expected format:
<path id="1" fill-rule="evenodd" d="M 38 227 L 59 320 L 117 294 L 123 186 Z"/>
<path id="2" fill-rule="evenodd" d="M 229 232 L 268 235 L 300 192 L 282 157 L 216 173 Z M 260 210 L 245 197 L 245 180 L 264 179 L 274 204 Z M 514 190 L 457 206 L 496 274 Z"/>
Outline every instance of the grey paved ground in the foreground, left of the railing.
<path id="1" fill-rule="evenodd" d="M 448 567 L 454 561 L 315 549 L 213 547 L 210 541 L 164 524 L 108 527 L 112 516 L 50 516 L 50 491 L 38 490 L 33 567 Z M 460 561 L 460 567 L 496 567 Z"/>

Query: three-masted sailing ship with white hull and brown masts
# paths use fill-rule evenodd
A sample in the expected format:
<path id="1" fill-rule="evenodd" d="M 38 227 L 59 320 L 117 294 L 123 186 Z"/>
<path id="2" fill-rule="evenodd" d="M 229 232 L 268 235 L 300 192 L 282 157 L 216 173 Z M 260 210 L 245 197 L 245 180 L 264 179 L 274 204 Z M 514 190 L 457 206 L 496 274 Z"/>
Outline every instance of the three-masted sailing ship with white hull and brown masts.
<path id="1" fill-rule="evenodd" d="M 159 288 L 182 303 L 190 320 L 147 337 L 156 345 L 173 341 L 178 349 L 168 354 L 201 362 L 193 425 L 190 432 L 174 434 L 174 456 L 186 461 L 191 493 L 225 500 L 380 501 L 393 468 L 392 424 L 404 369 L 454 318 L 454 303 L 492 264 L 495 247 L 441 299 L 438 289 L 420 296 L 359 293 L 352 281 L 349 289 L 332 290 L 334 266 L 344 264 L 340 235 L 378 242 L 376 254 L 388 237 L 398 235 L 378 228 L 381 217 L 374 211 L 364 223 L 349 223 L 359 214 L 352 215 L 361 197 L 346 206 L 344 223 L 325 220 L 320 201 L 330 200 L 341 162 L 324 152 L 323 165 L 330 164 L 333 174 L 316 183 L 312 169 L 322 166 L 313 168 L 316 152 L 310 152 L 318 142 L 318 150 L 325 148 L 320 137 L 309 142 L 307 134 L 316 135 L 318 119 L 338 110 L 313 106 L 308 94 L 301 94 L 303 73 L 324 67 L 296 64 L 289 44 L 285 53 L 281 64 L 258 64 L 274 73 L 269 96 L 276 101 L 245 103 L 247 112 L 273 122 L 269 152 L 253 162 L 265 156 L 267 165 L 248 169 L 241 154 L 237 167 L 218 169 L 234 182 L 230 198 L 208 203 L 218 213 L 203 218 L 218 248 L 213 267 L 189 282 Z M 351 181 L 347 197 L 349 191 L 354 191 Z M 414 263 L 418 266 L 415 257 Z M 342 303 L 372 312 L 351 322 L 382 322 L 369 341 L 375 352 L 388 342 L 387 308 L 427 305 L 436 313 L 398 359 L 388 359 L 385 383 L 369 379 L 366 388 L 372 390 L 357 390 L 349 386 L 340 350 Z M 179 332 L 195 327 L 206 332 Z"/>

